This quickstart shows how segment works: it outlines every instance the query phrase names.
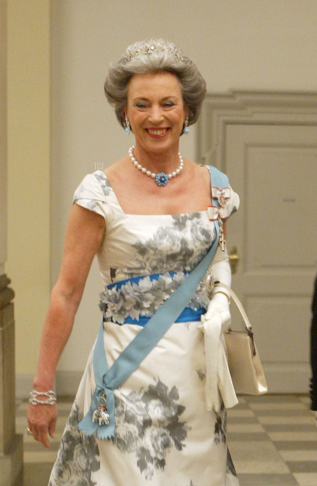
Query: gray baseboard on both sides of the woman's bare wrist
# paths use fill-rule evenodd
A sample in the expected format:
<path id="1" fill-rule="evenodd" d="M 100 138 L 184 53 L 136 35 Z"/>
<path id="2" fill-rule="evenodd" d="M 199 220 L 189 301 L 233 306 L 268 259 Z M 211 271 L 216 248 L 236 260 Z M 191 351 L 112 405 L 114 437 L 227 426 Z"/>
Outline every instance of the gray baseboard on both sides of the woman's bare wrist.
<path id="1" fill-rule="evenodd" d="M 74 397 L 82 379 L 82 371 L 57 371 L 55 392 L 60 397 Z M 27 399 L 33 387 L 33 375 L 18 373 L 16 375 L 16 398 Z"/>

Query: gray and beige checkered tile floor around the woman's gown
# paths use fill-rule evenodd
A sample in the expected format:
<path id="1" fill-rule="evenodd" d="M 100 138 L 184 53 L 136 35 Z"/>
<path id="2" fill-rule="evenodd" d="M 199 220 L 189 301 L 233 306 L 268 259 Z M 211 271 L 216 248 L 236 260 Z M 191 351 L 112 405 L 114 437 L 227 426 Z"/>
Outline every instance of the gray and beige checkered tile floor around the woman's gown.
<path id="1" fill-rule="evenodd" d="M 21 486 L 47 486 L 71 402 L 59 399 L 58 427 L 49 451 L 24 434 Z M 17 403 L 20 434 L 26 408 L 26 402 Z M 317 486 L 317 428 L 308 396 L 240 397 L 228 411 L 228 445 L 240 486 Z"/>

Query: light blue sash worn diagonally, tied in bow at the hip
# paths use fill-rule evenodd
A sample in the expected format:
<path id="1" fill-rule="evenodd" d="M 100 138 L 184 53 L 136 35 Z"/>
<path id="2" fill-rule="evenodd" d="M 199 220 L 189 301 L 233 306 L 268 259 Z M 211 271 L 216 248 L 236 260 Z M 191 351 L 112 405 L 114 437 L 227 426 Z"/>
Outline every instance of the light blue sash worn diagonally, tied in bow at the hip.
<path id="1" fill-rule="evenodd" d="M 213 186 L 218 188 L 228 186 L 228 177 L 225 174 L 212 166 L 210 166 L 209 169 Z M 213 199 L 213 203 L 215 206 L 218 206 L 217 198 Z M 159 307 L 155 314 L 150 318 L 149 322 L 117 357 L 110 369 L 108 368 L 103 344 L 103 319 L 101 319 L 93 355 L 96 389 L 92 396 L 88 413 L 78 424 L 78 428 L 87 435 L 92 435 L 97 430 L 97 436 L 100 439 L 114 436 L 115 396 L 113 390 L 129 378 L 133 371 L 164 336 L 170 326 L 178 319 L 183 312 L 184 307 L 186 307 L 187 303 L 192 298 L 192 295 L 195 293 L 200 281 L 205 276 L 217 250 L 219 237 L 219 224 L 217 220 L 215 221 L 215 227 L 216 238 L 207 255 L 200 261 L 197 267 L 192 270 L 185 281 L 175 290 L 167 301 Z M 106 407 L 109 414 L 108 425 L 99 425 L 92 420 L 93 413 L 98 409 L 100 398 L 103 393 L 106 397 Z"/>

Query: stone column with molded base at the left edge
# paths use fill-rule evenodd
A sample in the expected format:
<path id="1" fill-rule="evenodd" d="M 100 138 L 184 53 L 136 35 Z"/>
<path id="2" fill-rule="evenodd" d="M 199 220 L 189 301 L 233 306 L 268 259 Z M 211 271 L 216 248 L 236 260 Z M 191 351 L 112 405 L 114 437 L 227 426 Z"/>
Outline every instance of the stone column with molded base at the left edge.
<path id="1" fill-rule="evenodd" d="M 7 3 L 0 0 L 0 486 L 23 484 L 23 437 L 16 434 L 13 290 L 7 259 Z"/>

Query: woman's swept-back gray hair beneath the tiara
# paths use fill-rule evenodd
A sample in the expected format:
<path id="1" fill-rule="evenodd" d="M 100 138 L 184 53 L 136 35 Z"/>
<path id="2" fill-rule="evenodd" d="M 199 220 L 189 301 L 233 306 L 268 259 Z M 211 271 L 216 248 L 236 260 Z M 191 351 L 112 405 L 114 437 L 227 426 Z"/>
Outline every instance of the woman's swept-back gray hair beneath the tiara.
<path id="1" fill-rule="evenodd" d="M 184 105 L 188 109 L 188 124 L 197 121 L 206 95 L 206 82 L 196 64 L 183 57 L 173 43 L 150 39 L 129 46 L 124 56 L 108 70 L 104 91 L 123 128 L 126 126 L 124 112 L 130 79 L 134 74 L 162 71 L 171 72 L 179 79 Z"/>

